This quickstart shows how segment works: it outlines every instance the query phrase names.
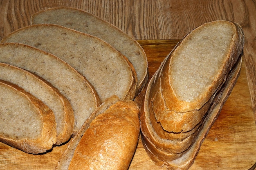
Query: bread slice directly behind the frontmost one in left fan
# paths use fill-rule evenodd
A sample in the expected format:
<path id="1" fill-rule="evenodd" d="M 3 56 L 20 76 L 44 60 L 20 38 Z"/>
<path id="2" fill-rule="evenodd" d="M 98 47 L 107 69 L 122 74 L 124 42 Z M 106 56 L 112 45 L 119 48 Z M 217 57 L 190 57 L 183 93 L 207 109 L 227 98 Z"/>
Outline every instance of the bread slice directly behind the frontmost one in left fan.
<path id="1" fill-rule="evenodd" d="M 74 130 L 74 112 L 70 102 L 57 88 L 41 77 L 9 64 L 0 63 L 0 73 L 0 79 L 20 86 L 53 111 L 57 126 L 56 145 L 70 139 Z"/>

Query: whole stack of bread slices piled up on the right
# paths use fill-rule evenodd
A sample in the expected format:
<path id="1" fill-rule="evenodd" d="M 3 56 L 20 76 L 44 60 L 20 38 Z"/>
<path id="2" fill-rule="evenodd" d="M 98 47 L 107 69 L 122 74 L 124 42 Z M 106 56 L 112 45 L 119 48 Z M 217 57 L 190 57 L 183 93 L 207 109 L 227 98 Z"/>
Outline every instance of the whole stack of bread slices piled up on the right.
<path id="1" fill-rule="evenodd" d="M 165 58 L 141 109 L 144 148 L 159 166 L 188 169 L 240 73 L 244 35 L 226 20 L 202 24 Z"/>

